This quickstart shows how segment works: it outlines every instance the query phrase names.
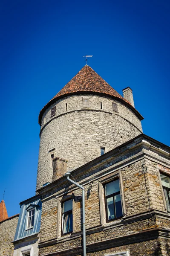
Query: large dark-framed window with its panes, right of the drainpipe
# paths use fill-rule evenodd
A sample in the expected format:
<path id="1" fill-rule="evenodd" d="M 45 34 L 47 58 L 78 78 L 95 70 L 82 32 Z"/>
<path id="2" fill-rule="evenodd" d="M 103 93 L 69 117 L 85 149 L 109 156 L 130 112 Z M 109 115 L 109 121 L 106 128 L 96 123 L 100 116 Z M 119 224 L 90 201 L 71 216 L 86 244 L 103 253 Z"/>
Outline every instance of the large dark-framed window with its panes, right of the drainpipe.
<path id="1" fill-rule="evenodd" d="M 105 184 L 105 205 L 107 221 L 120 218 L 122 214 L 119 179 Z"/>

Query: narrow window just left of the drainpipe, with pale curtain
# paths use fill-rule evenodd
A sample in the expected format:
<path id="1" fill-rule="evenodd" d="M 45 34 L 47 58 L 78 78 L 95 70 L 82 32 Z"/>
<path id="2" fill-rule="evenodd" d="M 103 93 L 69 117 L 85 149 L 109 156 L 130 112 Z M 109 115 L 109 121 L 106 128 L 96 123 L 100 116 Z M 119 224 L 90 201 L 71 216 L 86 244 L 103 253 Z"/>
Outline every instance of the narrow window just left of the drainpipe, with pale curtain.
<path id="1" fill-rule="evenodd" d="M 62 234 L 72 233 L 72 199 L 62 204 Z"/>

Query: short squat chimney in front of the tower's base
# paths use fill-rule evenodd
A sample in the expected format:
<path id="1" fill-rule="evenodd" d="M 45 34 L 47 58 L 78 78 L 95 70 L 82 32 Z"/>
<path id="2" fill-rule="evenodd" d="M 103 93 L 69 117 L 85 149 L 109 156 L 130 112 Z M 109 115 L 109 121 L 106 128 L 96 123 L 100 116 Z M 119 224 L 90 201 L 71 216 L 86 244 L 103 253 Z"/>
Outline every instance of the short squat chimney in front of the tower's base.
<path id="1" fill-rule="evenodd" d="M 68 162 L 67 160 L 62 159 L 60 157 L 55 157 L 53 159 L 52 181 L 57 180 L 58 178 L 62 177 L 66 173 L 67 162 Z"/>

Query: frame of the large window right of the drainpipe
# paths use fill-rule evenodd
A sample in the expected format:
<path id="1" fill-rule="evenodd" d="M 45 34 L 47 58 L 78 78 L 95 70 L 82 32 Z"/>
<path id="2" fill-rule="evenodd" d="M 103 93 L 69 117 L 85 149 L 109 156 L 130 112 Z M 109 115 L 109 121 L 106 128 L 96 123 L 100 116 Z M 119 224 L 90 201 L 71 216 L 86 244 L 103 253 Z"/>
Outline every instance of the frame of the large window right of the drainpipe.
<path id="1" fill-rule="evenodd" d="M 106 185 L 109 184 L 109 183 L 112 183 L 115 180 L 119 180 L 119 191 L 106 196 L 106 191 L 105 191 Z M 106 212 L 106 222 L 107 223 L 110 222 L 110 221 L 115 221 L 115 220 L 121 219 L 123 217 L 123 214 L 124 214 L 123 206 L 122 206 L 122 198 L 121 198 L 121 211 L 122 211 L 122 215 L 119 216 L 119 217 L 112 218 L 112 219 L 109 220 L 109 216 L 108 216 L 108 212 L 107 212 L 107 199 L 108 198 L 113 198 L 114 212 L 116 213 L 116 211 L 115 211 L 115 209 L 116 209 L 115 208 L 115 198 L 114 198 L 115 195 L 120 195 L 120 198 L 121 198 L 121 184 L 120 184 L 120 178 L 119 177 L 115 177 L 115 179 L 109 180 L 107 183 L 104 183 L 104 202 L 105 202 L 105 212 Z"/>

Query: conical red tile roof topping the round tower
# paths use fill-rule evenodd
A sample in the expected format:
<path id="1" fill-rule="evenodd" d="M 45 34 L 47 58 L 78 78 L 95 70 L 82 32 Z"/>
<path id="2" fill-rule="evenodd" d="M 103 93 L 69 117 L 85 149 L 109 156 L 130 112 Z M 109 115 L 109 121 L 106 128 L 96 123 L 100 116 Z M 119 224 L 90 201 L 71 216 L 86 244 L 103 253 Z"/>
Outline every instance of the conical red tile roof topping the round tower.
<path id="1" fill-rule="evenodd" d="M 116 90 L 114 90 L 106 81 L 104 81 L 101 76 L 99 76 L 91 67 L 85 65 L 76 76 L 74 76 L 60 91 L 57 93 L 40 111 L 39 115 L 39 124 L 41 124 L 41 118 L 43 112 L 46 108 L 51 105 L 55 99 L 61 98 L 63 96 L 71 95 L 78 93 L 98 93 L 105 94 L 117 99 L 120 99 L 130 108 L 133 108 L 139 118 L 142 120 L 143 117 L 141 114 L 128 102 L 124 99 Z"/>

